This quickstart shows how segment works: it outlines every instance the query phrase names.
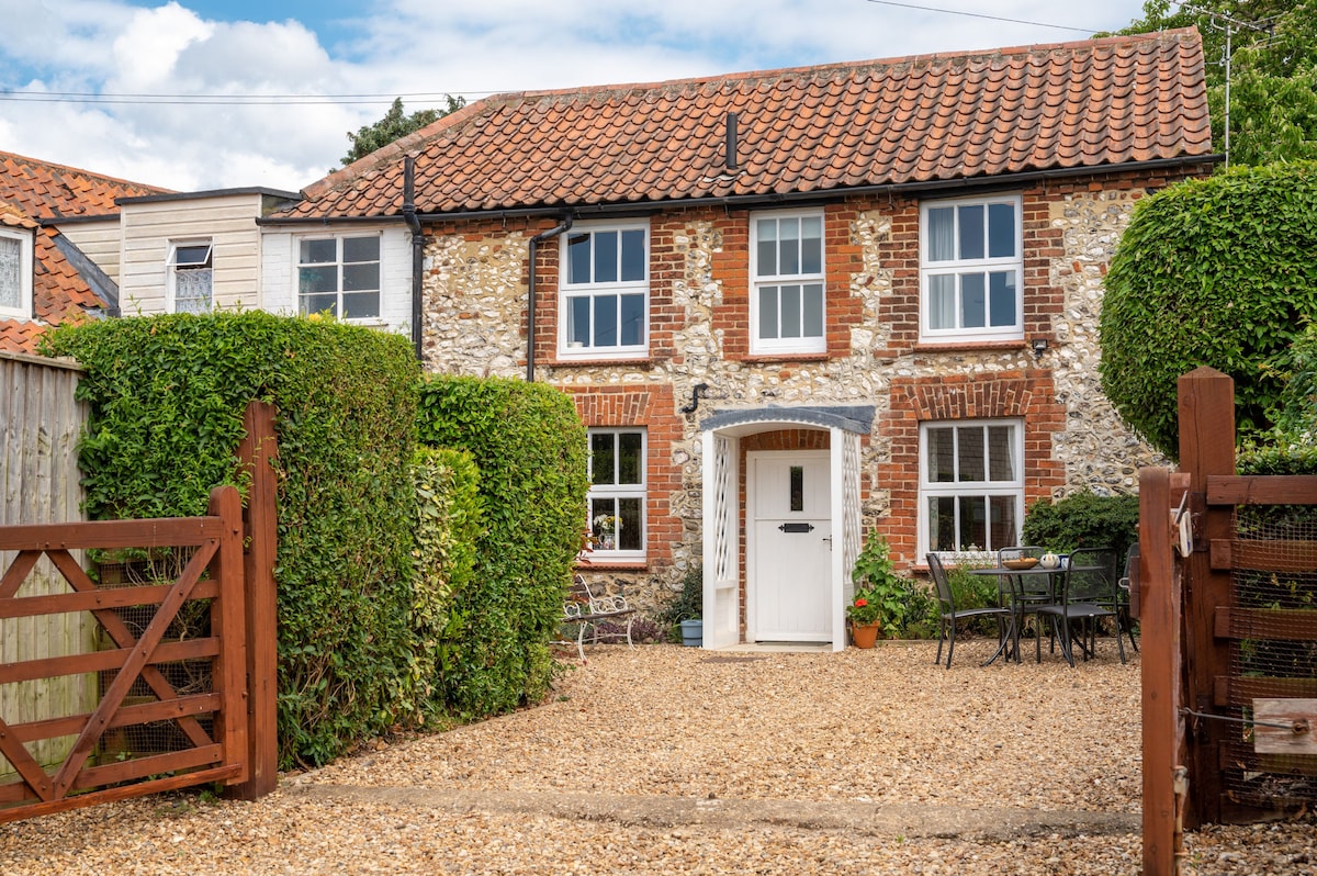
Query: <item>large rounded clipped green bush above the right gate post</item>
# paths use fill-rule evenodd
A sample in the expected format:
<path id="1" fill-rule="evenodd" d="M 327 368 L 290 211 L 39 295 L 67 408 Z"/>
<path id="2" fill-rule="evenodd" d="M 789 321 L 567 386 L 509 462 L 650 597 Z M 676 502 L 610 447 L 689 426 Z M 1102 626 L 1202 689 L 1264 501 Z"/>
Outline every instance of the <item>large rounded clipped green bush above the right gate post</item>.
<path id="1" fill-rule="evenodd" d="M 1102 299 L 1102 390 L 1179 454 L 1176 381 L 1235 381 L 1241 432 L 1274 425 L 1291 345 L 1317 317 L 1317 162 L 1235 167 L 1138 203 Z"/>

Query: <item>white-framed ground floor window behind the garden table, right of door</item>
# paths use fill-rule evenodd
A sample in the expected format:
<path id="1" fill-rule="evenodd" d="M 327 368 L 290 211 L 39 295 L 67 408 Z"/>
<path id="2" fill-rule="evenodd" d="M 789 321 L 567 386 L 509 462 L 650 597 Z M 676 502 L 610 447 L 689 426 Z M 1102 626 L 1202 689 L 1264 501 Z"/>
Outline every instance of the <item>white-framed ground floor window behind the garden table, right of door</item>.
<path id="1" fill-rule="evenodd" d="M 976 553 L 1019 544 L 1025 512 L 1022 424 L 925 423 L 919 429 L 921 555 Z"/>

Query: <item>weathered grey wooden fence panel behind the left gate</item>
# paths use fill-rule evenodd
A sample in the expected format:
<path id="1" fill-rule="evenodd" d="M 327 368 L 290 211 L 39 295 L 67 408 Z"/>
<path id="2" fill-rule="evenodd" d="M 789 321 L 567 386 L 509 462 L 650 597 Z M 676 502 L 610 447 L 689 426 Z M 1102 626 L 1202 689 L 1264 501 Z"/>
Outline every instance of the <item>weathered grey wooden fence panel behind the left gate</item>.
<path id="1" fill-rule="evenodd" d="M 63 523 L 83 519 L 78 439 L 86 404 L 75 393 L 82 369 L 33 356 L 0 352 L 0 526 Z M 74 555 L 83 561 L 82 552 Z M 0 551 L 8 568 L 12 552 Z M 41 559 L 24 595 L 63 591 L 59 573 Z M 94 647 L 95 623 L 86 614 L 0 619 L 0 663 L 58 659 Z M 86 711 L 97 697 L 95 673 L 0 684 L 0 714 L 41 721 Z M 65 759 L 72 736 L 34 746 L 43 764 Z M 0 756 L 0 781 L 14 776 Z"/>

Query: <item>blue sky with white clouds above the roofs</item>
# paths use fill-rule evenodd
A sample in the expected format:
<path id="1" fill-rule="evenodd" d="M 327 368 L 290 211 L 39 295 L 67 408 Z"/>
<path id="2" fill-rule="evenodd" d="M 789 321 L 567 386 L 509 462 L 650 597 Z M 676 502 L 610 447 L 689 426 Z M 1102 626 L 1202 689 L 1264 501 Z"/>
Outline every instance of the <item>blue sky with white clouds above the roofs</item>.
<path id="1" fill-rule="evenodd" d="M 441 105 L 445 94 L 477 100 L 1067 42 L 1142 13 L 1142 0 L 4 5 L 0 150 L 183 191 L 302 188 L 336 167 L 346 132 L 382 116 L 394 96 L 410 112 Z"/>

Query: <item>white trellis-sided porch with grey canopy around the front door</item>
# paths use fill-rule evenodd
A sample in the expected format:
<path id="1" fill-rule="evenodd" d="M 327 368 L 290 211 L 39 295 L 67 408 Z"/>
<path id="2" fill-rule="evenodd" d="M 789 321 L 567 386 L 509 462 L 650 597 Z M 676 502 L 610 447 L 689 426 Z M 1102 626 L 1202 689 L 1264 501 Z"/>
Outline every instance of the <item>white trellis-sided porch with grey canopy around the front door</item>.
<path id="1" fill-rule="evenodd" d="M 846 605 L 851 569 L 860 552 L 860 436 L 873 424 L 873 406 L 755 407 L 718 410 L 701 422 L 703 445 L 703 569 L 706 648 L 741 640 L 740 534 L 738 502 L 740 441 L 761 432 L 818 429 L 828 432 L 832 551 L 830 576 L 830 643 L 846 648 Z M 752 582 L 747 582 L 752 586 Z"/>

